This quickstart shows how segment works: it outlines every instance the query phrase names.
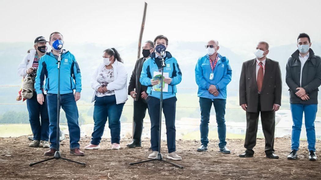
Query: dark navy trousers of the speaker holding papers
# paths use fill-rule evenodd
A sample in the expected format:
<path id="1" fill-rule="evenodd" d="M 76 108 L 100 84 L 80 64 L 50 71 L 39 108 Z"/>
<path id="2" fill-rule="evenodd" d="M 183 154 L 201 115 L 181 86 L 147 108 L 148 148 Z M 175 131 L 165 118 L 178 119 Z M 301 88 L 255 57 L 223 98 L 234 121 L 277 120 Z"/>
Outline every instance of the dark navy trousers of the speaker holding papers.
<path id="1" fill-rule="evenodd" d="M 176 151 L 176 101 L 176 97 L 171 97 L 163 100 L 163 113 L 165 116 L 168 153 Z M 160 127 L 160 99 L 151 96 L 148 101 L 148 110 L 151 117 L 152 151 L 158 151 Z"/>

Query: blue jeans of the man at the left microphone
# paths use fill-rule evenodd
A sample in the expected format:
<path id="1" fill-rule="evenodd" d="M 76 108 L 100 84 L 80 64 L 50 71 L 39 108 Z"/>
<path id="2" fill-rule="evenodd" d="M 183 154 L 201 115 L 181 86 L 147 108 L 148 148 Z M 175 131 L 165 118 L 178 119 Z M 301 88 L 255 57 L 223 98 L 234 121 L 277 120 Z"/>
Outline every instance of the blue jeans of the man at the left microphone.
<path id="1" fill-rule="evenodd" d="M 50 148 L 56 149 L 56 138 L 57 138 L 57 94 L 47 94 L 47 105 L 48 114 L 50 121 Z M 80 128 L 78 125 L 78 108 L 75 101 L 74 93 L 60 94 L 60 106 L 65 111 L 69 139 L 70 139 L 70 149 L 79 148 L 80 140 Z M 59 131 L 59 129 L 58 129 Z M 58 147 L 59 150 L 59 147 Z"/>

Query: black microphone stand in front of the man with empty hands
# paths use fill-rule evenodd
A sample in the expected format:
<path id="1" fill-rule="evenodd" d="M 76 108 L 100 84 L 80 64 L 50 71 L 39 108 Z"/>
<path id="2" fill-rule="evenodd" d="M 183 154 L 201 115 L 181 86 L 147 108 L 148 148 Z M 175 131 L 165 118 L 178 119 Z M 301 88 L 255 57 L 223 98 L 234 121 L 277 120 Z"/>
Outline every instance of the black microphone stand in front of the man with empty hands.
<path id="1" fill-rule="evenodd" d="M 57 94 L 57 139 L 56 139 L 56 152 L 55 152 L 55 155 L 54 157 L 52 158 L 48 158 L 46 160 L 41 160 L 41 161 L 38 161 L 38 162 L 34 162 L 34 163 L 30 163 L 29 166 L 33 166 L 35 164 L 39 164 L 39 163 L 42 163 L 42 162 L 46 162 L 48 160 L 53 160 L 53 159 L 63 159 L 63 160 L 67 160 L 67 161 L 70 161 L 70 162 L 74 162 L 74 163 L 78 163 L 78 164 L 81 164 L 81 165 L 86 165 L 86 163 L 84 162 L 78 162 L 78 161 L 74 161 L 74 160 L 70 160 L 70 159 L 67 159 L 67 158 L 63 158 L 61 157 L 61 154 L 60 154 L 60 151 L 59 151 L 59 148 L 60 148 L 60 141 L 59 141 L 59 119 L 60 119 L 60 63 L 61 63 L 61 54 L 62 54 L 62 48 L 59 50 L 59 56 L 58 56 L 58 94 Z"/>

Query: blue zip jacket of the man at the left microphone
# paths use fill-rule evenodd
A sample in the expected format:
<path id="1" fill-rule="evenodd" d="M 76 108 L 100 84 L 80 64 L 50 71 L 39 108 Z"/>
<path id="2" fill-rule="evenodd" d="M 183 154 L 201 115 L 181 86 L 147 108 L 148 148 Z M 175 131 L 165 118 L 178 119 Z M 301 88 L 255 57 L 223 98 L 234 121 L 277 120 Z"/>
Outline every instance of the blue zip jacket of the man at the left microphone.
<path id="1" fill-rule="evenodd" d="M 52 52 L 46 53 L 39 60 L 35 89 L 41 94 L 43 81 L 46 77 L 45 91 L 58 94 L 58 60 Z M 63 51 L 60 64 L 60 94 L 81 92 L 81 74 L 75 56 L 69 51 Z"/>

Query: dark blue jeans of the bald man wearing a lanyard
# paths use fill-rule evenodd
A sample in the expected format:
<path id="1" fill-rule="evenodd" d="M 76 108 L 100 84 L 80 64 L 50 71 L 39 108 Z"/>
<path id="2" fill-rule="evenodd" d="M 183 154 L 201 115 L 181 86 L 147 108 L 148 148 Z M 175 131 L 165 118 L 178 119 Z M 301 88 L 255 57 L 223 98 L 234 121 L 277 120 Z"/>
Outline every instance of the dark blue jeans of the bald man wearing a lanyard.
<path id="1" fill-rule="evenodd" d="M 219 135 L 219 147 L 223 148 L 226 146 L 226 125 L 225 125 L 225 105 L 226 99 L 208 99 L 200 97 L 200 107 L 201 107 L 201 143 L 204 146 L 208 144 L 208 123 L 210 122 L 210 113 L 212 104 L 214 105 L 216 113 L 216 123 L 217 123 L 217 132 Z"/>

